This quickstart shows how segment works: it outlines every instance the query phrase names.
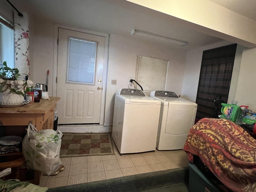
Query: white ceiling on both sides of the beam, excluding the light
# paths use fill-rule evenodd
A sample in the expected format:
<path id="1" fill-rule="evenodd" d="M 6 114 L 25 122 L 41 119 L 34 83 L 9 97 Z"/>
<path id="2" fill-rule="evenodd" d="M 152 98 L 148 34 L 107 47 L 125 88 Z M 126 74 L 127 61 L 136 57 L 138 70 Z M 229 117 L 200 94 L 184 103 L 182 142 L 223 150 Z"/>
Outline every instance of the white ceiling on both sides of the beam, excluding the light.
<path id="1" fill-rule="evenodd" d="M 255 0 L 210 1 L 256 20 Z M 188 45 L 184 47 L 170 45 L 183 50 L 223 41 L 220 38 L 191 30 L 172 16 L 126 0 L 10 0 L 10 2 L 20 12 L 28 12 L 30 18 L 45 19 L 65 26 L 129 37 L 131 31 L 136 28 L 188 42 Z M 140 37 L 134 36 L 133 38 Z"/>

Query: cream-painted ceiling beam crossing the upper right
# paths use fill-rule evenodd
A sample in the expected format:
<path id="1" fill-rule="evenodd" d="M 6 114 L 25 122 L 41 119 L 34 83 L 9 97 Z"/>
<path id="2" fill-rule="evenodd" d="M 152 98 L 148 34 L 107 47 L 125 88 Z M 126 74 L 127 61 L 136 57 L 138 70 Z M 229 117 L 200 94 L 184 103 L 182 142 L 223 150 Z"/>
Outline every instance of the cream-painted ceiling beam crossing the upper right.
<path id="1" fill-rule="evenodd" d="M 126 0 L 168 14 L 186 27 L 211 36 L 256 47 L 256 21 L 209 0 Z"/>

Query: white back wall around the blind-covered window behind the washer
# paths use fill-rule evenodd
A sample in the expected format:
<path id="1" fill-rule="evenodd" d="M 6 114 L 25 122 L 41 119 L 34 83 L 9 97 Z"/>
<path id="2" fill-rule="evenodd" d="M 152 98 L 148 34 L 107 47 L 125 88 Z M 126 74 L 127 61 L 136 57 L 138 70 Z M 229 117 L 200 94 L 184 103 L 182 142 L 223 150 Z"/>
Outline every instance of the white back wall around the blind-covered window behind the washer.
<path id="1" fill-rule="evenodd" d="M 129 80 L 135 77 L 137 54 L 170 60 L 166 90 L 181 94 L 186 52 L 133 38 L 110 35 L 104 126 L 112 125 L 116 91 L 133 88 L 129 85 Z M 116 80 L 116 85 L 111 84 L 112 79 Z"/>

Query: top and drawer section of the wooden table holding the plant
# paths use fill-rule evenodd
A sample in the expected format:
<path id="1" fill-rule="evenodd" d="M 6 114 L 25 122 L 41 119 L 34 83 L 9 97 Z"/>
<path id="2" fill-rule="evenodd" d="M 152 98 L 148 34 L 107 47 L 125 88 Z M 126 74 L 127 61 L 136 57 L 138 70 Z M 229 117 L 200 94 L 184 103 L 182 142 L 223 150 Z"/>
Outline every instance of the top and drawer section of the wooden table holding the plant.
<path id="1" fill-rule="evenodd" d="M 28 126 L 32 123 L 37 130 L 53 129 L 54 109 L 60 97 L 41 99 L 18 107 L 0 107 L 0 126 Z"/>

